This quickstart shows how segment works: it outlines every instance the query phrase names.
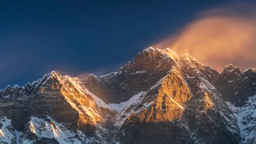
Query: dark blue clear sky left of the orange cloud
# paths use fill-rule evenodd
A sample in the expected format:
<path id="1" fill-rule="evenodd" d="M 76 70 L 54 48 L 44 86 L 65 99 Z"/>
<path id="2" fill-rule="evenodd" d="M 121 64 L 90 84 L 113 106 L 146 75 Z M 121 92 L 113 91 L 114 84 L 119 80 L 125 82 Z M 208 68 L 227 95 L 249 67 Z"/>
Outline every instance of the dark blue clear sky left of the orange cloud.
<path id="1" fill-rule="evenodd" d="M 224 1 L 0 3 L 0 89 L 52 70 L 105 74 Z"/>

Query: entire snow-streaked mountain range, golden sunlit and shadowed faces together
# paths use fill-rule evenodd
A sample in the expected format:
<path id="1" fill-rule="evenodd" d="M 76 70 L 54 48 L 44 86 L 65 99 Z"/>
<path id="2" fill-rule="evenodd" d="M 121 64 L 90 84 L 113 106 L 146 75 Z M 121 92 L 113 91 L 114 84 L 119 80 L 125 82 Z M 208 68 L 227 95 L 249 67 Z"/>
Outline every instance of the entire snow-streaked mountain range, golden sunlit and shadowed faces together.
<path id="1" fill-rule="evenodd" d="M 0 143 L 255 143 L 255 73 L 151 47 L 105 76 L 53 71 L 0 91 Z"/>

